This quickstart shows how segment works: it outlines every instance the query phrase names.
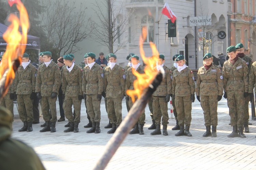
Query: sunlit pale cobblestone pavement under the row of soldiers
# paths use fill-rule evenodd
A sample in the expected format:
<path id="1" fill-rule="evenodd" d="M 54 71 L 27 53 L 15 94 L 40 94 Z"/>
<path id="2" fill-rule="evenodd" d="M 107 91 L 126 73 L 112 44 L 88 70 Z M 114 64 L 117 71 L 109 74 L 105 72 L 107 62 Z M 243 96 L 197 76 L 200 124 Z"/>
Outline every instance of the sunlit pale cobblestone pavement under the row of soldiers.
<path id="1" fill-rule="evenodd" d="M 249 107 L 251 108 L 251 105 Z M 175 125 L 175 120 L 171 118 L 170 110 L 169 136 L 151 136 L 150 133 L 153 130 L 147 129 L 152 123 L 147 106 L 145 135 L 128 135 L 106 169 L 255 169 L 255 121 L 250 121 L 253 125 L 249 126 L 250 133 L 245 134 L 246 138 L 228 138 L 227 135 L 231 133 L 232 127 L 228 125 L 230 117 L 227 100 L 223 98 L 218 104 L 217 137 L 203 138 L 205 126 L 200 103 L 195 101 L 192 108 L 190 126 L 192 137 L 174 136 L 177 131 L 171 130 Z M 100 134 L 86 133 L 88 128 L 83 126 L 88 123 L 88 120 L 84 105 L 81 109 L 79 133 L 63 132 L 66 129 L 64 125 L 68 123 L 67 119 L 56 123 L 56 133 L 40 133 L 39 130 L 42 129 L 40 125 L 44 123 L 42 117 L 40 117 L 40 124 L 33 125 L 33 132 L 18 132 L 23 123 L 19 120 L 15 105 L 14 111 L 12 137 L 32 146 L 42 159 L 45 168 L 49 170 L 92 169 L 102 154 L 105 144 L 112 137 L 111 134 L 106 133 L 109 129 L 104 129 L 109 120 L 103 99 L 101 101 Z M 126 114 L 124 99 L 123 118 Z M 59 112 L 57 115 L 59 118 Z"/>

